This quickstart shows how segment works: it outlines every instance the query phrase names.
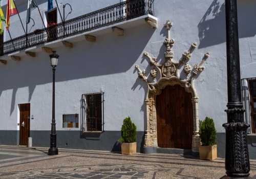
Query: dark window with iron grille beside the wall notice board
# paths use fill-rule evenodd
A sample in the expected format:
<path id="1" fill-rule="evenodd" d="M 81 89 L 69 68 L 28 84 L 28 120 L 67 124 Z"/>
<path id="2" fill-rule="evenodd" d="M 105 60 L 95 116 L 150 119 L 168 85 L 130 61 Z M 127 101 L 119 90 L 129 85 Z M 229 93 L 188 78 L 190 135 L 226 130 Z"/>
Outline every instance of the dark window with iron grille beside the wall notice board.
<path id="1" fill-rule="evenodd" d="M 104 93 L 82 95 L 82 130 L 104 131 Z"/>

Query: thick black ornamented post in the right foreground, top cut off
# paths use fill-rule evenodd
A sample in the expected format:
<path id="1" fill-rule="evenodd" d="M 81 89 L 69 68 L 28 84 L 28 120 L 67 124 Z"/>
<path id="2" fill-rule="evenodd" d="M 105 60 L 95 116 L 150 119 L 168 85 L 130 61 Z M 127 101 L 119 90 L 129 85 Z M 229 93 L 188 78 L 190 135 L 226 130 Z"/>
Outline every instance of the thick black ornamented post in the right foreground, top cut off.
<path id="1" fill-rule="evenodd" d="M 231 177 L 249 176 L 250 163 L 247 145 L 247 128 L 241 97 L 237 0 L 225 0 L 227 39 L 227 92 L 225 111 L 226 129 L 226 174 Z"/>

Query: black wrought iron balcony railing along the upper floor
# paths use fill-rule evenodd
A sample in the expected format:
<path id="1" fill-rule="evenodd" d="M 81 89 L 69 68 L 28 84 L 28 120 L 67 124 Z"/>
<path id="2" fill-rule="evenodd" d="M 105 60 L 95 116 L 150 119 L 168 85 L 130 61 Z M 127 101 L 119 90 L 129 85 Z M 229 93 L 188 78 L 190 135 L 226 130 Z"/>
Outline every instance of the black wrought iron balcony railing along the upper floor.
<path id="1" fill-rule="evenodd" d="M 154 0 L 124 1 L 62 23 L 31 32 L 1 44 L 1 56 L 25 50 L 57 39 L 89 32 L 121 21 L 153 14 Z"/>

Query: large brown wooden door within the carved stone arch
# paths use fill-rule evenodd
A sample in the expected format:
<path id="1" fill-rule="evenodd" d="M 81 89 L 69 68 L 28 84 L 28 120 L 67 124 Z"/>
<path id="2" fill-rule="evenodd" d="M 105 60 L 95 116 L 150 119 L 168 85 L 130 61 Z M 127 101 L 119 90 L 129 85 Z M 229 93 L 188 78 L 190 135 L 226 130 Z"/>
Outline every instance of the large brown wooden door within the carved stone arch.
<path id="1" fill-rule="evenodd" d="M 191 93 L 179 84 L 166 86 L 156 98 L 158 147 L 191 149 L 193 104 Z"/>

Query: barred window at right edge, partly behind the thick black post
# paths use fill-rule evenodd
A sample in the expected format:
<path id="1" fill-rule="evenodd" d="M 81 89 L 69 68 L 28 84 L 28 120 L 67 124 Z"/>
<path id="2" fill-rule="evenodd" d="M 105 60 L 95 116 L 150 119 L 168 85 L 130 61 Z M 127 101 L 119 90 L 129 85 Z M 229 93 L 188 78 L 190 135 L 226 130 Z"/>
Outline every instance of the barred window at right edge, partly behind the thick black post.
<path id="1" fill-rule="evenodd" d="M 256 133 L 256 78 L 242 79 L 242 97 L 245 122 L 250 124 L 248 133 Z"/>

